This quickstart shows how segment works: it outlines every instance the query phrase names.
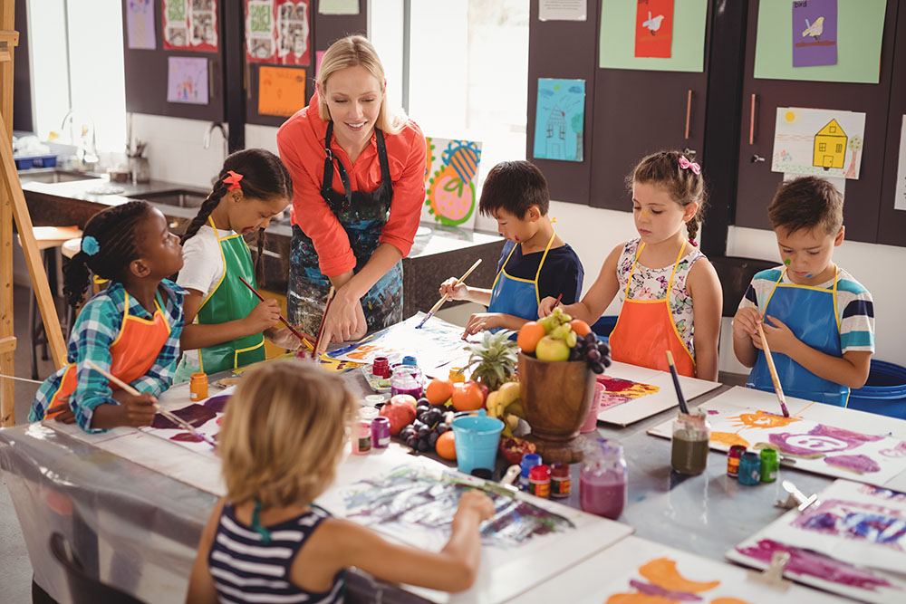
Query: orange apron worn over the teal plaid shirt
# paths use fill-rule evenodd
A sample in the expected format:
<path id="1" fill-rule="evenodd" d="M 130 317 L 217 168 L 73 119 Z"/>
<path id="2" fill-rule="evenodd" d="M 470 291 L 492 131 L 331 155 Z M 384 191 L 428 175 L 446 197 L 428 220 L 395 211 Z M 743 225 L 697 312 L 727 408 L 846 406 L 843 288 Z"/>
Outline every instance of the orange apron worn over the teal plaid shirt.
<path id="1" fill-rule="evenodd" d="M 139 379 L 154 366 L 160 350 L 167 343 L 170 326 L 160 304 L 157 300 L 154 305 L 157 310 L 150 319 L 142 319 L 129 314 L 129 292 L 126 295 L 125 310 L 123 310 L 120 334 L 111 344 L 111 369 L 110 372 L 127 384 Z M 60 388 L 53 393 L 49 407 L 65 403 L 75 391 L 78 384 L 79 371 L 75 363 L 70 363 L 60 380 Z M 111 384 L 111 388 L 116 388 Z M 58 415 L 54 413 L 53 416 Z M 53 417 L 48 415 L 47 417 Z"/>

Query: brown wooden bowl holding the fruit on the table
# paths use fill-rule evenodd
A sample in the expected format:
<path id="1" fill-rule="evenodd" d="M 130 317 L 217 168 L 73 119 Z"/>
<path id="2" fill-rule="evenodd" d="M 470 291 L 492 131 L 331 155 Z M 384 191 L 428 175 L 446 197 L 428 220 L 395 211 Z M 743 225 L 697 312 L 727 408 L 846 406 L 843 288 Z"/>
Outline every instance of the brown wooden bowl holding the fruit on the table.
<path id="1" fill-rule="evenodd" d="M 582 460 L 579 428 L 592 410 L 594 374 L 584 360 L 537 360 L 519 352 L 519 382 L 528 439 L 545 462 Z"/>

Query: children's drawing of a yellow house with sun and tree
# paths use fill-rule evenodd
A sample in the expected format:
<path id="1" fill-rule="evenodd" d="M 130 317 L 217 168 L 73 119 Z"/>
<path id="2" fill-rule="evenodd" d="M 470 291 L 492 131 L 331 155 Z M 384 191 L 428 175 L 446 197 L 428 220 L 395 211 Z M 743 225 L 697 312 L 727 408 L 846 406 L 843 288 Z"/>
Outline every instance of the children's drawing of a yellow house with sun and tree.
<path id="1" fill-rule="evenodd" d="M 864 136 L 864 113 L 778 107 L 771 169 L 857 179 Z"/>

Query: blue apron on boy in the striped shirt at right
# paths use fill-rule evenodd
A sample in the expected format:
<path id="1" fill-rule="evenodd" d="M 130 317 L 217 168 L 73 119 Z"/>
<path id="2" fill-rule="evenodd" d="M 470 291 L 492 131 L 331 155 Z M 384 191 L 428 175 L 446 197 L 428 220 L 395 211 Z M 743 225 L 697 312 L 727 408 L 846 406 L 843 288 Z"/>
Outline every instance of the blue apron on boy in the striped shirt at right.
<path id="1" fill-rule="evenodd" d="M 774 290 L 767 297 L 765 316 L 776 317 L 786 323 L 796 338 L 815 350 L 832 357 L 842 357 L 840 346 L 840 317 L 837 314 L 837 272 L 834 267 L 834 285 L 831 289 L 796 285 L 795 283 L 774 284 Z M 767 321 L 767 320 L 766 320 Z M 819 378 L 786 354 L 773 352 L 777 376 L 788 397 L 815 400 L 827 405 L 846 407 L 850 389 L 830 380 Z M 767 369 L 765 353 L 758 350 L 755 367 L 748 376 L 748 388 L 774 392 L 771 373 Z"/>

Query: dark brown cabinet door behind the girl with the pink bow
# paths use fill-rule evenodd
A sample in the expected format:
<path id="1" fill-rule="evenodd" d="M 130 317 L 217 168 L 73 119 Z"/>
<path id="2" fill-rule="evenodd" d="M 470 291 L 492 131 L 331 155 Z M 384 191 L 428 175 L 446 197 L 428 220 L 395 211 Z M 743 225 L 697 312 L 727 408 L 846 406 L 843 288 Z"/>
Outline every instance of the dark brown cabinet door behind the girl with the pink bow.
<path id="1" fill-rule="evenodd" d="M 641 158 L 680 149 L 704 164 L 711 15 L 708 2 L 704 72 L 596 69 L 592 125 L 591 206 L 631 210 L 626 176 Z"/>

